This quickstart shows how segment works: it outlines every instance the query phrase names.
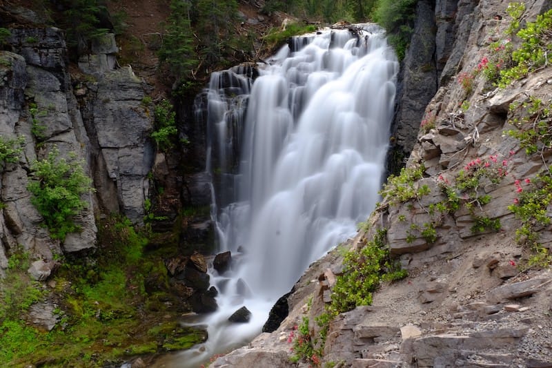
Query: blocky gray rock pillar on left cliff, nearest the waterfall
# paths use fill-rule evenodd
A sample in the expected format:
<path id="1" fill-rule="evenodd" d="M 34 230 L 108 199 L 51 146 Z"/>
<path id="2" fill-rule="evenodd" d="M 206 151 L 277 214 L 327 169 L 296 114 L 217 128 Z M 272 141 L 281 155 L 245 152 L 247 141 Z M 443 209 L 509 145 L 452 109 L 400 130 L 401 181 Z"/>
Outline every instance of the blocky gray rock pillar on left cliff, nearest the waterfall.
<path id="1" fill-rule="evenodd" d="M 141 223 L 149 192 L 146 175 L 155 158 L 148 139 L 152 118 L 141 105 L 144 85 L 126 67 L 99 75 L 88 90 L 83 118 L 95 148 L 93 166 L 106 170 L 95 173 L 102 188 L 99 202 L 106 211 L 121 209 L 132 222 Z"/>

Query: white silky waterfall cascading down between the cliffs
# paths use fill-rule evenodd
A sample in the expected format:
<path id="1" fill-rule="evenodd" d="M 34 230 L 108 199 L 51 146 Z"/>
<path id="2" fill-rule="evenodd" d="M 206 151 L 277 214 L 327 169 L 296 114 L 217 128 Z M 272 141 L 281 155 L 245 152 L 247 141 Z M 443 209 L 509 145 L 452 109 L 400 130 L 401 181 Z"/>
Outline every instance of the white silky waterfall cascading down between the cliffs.
<path id="1" fill-rule="evenodd" d="M 359 38 L 324 30 L 308 41 L 297 52 L 282 48 L 251 90 L 237 68 L 211 79 L 208 170 L 220 177 L 213 215 L 219 250 L 232 251 L 233 266 L 212 271 L 219 310 L 201 321 L 208 341 L 177 354 L 174 365 L 197 367 L 260 333 L 275 301 L 311 262 L 354 235 L 377 202 L 395 56 L 374 25 Z M 220 88 L 225 78 L 233 88 Z M 230 324 L 242 306 L 252 320 Z"/>

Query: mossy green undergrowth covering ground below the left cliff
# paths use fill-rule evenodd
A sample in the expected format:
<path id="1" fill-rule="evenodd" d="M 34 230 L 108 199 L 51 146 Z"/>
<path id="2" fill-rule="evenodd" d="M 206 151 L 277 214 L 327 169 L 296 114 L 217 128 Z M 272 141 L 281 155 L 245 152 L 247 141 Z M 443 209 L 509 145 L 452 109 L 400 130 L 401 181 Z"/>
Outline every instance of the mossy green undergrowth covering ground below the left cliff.
<path id="1" fill-rule="evenodd" d="M 168 293 L 163 259 L 147 243 L 125 218 L 102 220 L 97 251 L 60 260 L 48 287 L 29 279 L 26 253 L 12 255 L 1 283 L 0 367 L 105 367 L 204 341 L 203 331 L 175 322 L 188 309 L 171 308 L 180 300 Z M 22 319 L 46 301 L 55 305 L 52 331 Z"/>

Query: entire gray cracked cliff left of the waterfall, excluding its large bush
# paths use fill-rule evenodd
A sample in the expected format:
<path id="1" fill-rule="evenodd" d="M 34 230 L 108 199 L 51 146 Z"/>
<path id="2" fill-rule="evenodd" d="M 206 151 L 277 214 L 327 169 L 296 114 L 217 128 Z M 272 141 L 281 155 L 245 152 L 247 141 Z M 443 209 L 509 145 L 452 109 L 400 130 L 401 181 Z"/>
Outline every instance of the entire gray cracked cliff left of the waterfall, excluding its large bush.
<path id="1" fill-rule="evenodd" d="M 148 138 L 152 106 L 142 104 L 148 87 L 130 67 L 116 67 L 113 35 L 95 41 L 95 53 L 81 60 L 83 72 L 76 74 L 83 81 L 75 83 L 61 30 L 10 33 L 6 42 L 12 52 L 0 51 L 0 133 L 3 139 L 23 137 L 24 145 L 19 162 L 3 165 L 0 174 L 2 270 L 19 246 L 45 262 L 61 252 L 94 248 L 100 212 L 121 212 L 140 223 L 154 151 Z M 82 159 L 96 188 L 83 197 L 86 208 L 75 217 L 81 231 L 63 242 L 52 240 L 41 226 L 26 189 L 30 165 L 54 147 L 61 157 Z M 35 278 L 47 277 L 40 267 L 33 270 Z"/>

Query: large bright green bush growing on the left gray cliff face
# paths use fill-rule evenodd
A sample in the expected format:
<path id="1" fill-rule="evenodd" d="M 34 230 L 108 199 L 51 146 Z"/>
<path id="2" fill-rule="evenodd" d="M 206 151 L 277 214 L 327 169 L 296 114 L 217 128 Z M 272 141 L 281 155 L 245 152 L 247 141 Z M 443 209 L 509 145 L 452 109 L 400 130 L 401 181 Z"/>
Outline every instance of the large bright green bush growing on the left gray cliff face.
<path id="1" fill-rule="evenodd" d="M 83 162 L 76 159 L 75 153 L 69 161 L 60 158 L 58 149 L 53 148 L 48 157 L 31 164 L 31 171 L 34 177 L 28 185 L 31 203 L 44 217 L 50 236 L 63 241 L 68 233 L 79 230 L 73 216 L 86 206 L 81 195 L 92 190 Z"/>

